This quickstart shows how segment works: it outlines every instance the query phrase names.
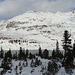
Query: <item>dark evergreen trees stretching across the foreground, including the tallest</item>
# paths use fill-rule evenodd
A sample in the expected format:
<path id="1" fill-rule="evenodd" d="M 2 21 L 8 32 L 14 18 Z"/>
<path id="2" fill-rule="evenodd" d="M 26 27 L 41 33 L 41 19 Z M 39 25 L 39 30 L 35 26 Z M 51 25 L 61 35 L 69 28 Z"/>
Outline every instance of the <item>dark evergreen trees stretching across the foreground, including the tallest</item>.
<path id="1" fill-rule="evenodd" d="M 64 53 L 59 49 L 59 42 L 56 42 L 56 49 L 52 51 L 52 55 L 49 56 L 49 51 L 45 49 L 44 51 L 39 47 L 37 54 L 29 53 L 29 50 L 23 50 L 20 47 L 19 52 L 12 55 L 11 49 L 4 54 L 4 50 L 1 47 L 0 58 L 2 58 L 2 64 L 0 67 L 5 70 L 11 69 L 12 59 L 14 60 L 24 60 L 26 62 L 26 66 L 28 64 L 27 59 L 31 60 L 31 67 L 37 67 L 42 64 L 41 60 L 38 59 L 48 59 L 51 60 L 48 62 L 48 66 L 46 68 L 46 72 L 43 75 L 55 75 L 60 67 L 64 67 L 67 73 L 72 74 L 72 70 L 75 68 L 74 58 L 75 58 L 75 42 L 71 44 L 71 34 L 67 30 L 64 31 L 62 46 L 64 49 Z M 37 57 L 36 57 L 37 56 Z M 34 60 L 35 59 L 35 62 Z M 60 62 L 62 66 L 58 66 L 57 62 Z M 42 68 L 45 69 L 45 68 Z M 33 71 L 32 71 L 33 72 Z"/>

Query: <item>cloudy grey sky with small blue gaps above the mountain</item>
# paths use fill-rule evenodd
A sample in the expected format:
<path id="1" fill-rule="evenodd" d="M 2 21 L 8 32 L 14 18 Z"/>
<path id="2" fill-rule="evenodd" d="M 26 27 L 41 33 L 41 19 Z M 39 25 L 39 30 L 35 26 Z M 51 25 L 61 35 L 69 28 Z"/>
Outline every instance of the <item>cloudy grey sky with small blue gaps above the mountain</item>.
<path id="1" fill-rule="evenodd" d="M 68 12 L 75 0 L 0 0 L 0 19 L 12 18 L 26 11 Z"/>

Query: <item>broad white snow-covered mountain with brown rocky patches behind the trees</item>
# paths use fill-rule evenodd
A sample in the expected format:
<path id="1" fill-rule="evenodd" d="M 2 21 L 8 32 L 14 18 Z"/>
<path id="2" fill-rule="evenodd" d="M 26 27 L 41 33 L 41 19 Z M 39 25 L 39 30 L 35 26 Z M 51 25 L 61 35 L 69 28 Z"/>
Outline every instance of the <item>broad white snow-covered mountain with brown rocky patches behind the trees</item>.
<path id="1" fill-rule="evenodd" d="M 75 11 L 67 13 L 28 11 L 8 21 L 0 21 L 0 46 L 7 50 L 38 49 L 39 45 L 52 50 L 56 41 L 62 45 L 64 30 L 75 39 Z"/>

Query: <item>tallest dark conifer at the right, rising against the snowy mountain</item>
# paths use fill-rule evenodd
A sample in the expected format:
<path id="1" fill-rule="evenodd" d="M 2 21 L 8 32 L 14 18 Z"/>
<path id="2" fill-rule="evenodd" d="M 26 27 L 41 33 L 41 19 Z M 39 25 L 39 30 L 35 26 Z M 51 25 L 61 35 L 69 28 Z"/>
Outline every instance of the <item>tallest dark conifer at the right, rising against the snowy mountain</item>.
<path id="1" fill-rule="evenodd" d="M 73 67 L 73 49 L 71 46 L 71 34 L 67 30 L 64 31 L 64 39 L 63 39 L 63 49 L 65 50 L 64 53 L 64 60 L 63 65 L 66 67 Z"/>

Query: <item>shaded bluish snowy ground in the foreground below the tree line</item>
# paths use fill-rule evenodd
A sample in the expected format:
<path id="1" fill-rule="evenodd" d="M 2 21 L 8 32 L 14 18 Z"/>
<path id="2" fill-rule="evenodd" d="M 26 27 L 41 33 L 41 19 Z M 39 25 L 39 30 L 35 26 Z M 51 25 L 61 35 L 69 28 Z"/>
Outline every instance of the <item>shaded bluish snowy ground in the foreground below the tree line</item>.
<path id="1" fill-rule="evenodd" d="M 33 59 L 35 62 L 35 59 Z M 42 65 L 39 65 L 37 67 L 31 67 L 31 60 L 27 59 L 28 66 L 24 66 L 26 61 L 24 60 L 12 60 L 12 70 L 7 70 L 4 75 L 16 75 L 16 66 L 17 66 L 17 73 L 18 75 L 43 75 L 43 73 L 47 72 L 48 62 L 51 62 L 52 60 L 48 59 L 41 59 L 39 60 L 42 62 Z M 0 60 L 1 63 L 1 60 Z M 21 65 L 19 65 L 21 63 Z M 23 65 L 24 64 L 24 65 Z M 58 66 L 62 66 L 60 62 L 57 63 Z M 20 68 L 22 69 L 20 70 Z M 44 68 L 44 69 L 42 69 Z M 3 68 L 0 68 L 0 71 L 2 71 Z M 21 71 L 21 73 L 20 73 Z M 75 75 L 75 69 L 72 69 L 73 73 L 71 75 Z M 59 71 L 55 75 L 70 75 L 70 73 L 67 73 L 64 67 L 60 67 Z"/>

